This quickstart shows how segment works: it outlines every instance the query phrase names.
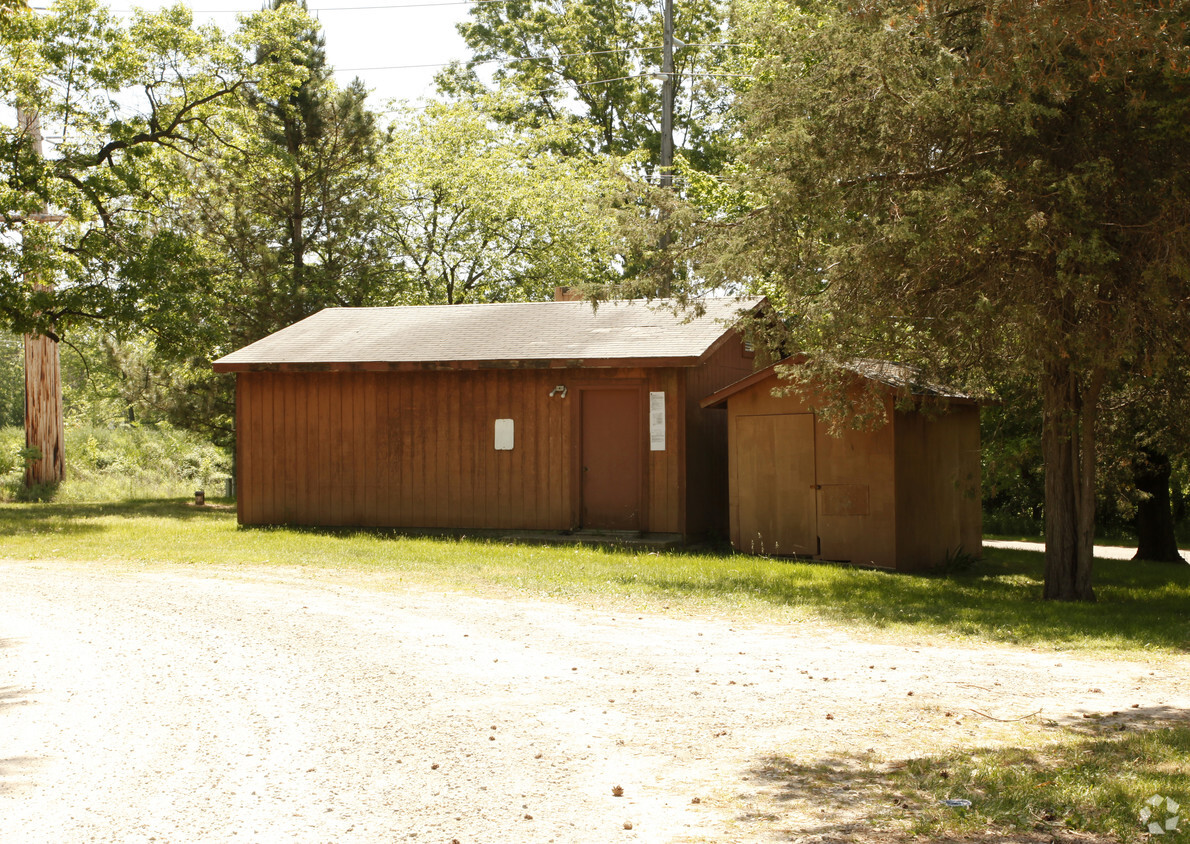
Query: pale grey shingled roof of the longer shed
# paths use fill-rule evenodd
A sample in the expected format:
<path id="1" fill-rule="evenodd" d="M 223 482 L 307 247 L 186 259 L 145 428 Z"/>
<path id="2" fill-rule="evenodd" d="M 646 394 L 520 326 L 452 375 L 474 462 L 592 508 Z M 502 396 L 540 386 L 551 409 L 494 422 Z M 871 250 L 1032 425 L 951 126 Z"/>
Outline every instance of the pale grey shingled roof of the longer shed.
<path id="1" fill-rule="evenodd" d="M 694 365 L 759 299 L 327 308 L 214 362 L 251 370 Z"/>

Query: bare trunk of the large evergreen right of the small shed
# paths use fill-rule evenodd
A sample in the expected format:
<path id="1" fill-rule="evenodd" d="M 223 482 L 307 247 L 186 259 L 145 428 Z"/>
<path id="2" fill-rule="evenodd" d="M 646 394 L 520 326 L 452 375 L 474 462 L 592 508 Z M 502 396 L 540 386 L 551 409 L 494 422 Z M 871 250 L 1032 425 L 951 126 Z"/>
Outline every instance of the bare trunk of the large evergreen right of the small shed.
<path id="1" fill-rule="evenodd" d="M 1046 600 L 1094 601 L 1095 419 L 1102 373 L 1085 389 L 1066 361 L 1042 376 L 1041 454 L 1045 461 Z"/>

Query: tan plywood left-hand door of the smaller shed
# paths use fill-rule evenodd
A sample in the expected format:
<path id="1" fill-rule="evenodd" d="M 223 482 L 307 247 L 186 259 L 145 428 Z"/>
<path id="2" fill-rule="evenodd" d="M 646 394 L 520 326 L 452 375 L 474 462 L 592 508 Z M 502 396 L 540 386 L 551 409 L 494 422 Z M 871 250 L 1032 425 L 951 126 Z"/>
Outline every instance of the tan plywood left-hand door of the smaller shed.
<path id="1" fill-rule="evenodd" d="M 814 414 L 738 417 L 734 450 L 739 550 L 816 554 Z"/>

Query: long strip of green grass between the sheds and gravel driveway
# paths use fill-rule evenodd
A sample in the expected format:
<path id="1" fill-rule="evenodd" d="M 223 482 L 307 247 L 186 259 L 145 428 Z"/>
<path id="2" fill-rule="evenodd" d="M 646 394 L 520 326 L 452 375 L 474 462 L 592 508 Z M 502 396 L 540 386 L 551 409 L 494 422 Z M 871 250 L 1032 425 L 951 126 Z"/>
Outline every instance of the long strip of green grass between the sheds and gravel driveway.
<path id="1" fill-rule="evenodd" d="M 650 554 L 392 532 L 239 529 L 180 500 L 0 505 L 0 554 L 125 564 L 300 565 L 426 586 L 714 611 L 1045 649 L 1190 651 L 1190 565 L 1096 561 L 1096 604 L 1040 600 L 1041 555 L 989 550 L 965 571 L 898 575 L 732 554 Z"/>

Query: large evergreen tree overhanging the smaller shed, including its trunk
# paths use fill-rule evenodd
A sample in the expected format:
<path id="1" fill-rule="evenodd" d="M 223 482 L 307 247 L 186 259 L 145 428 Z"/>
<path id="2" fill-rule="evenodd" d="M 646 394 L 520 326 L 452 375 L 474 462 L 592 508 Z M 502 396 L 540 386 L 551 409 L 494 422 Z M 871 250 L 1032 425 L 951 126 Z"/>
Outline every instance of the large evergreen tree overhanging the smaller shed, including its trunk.
<path id="1" fill-rule="evenodd" d="M 1048 599 L 1094 599 L 1104 390 L 1171 373 L 1186 342 L 1186 21 L 1184 2 L 927 0 L 772 4 L 753 29 L 772 58 L 743 106 L 756 201 L 720 226 L 731 275 L 823 367 L 1034 385 Z"/>

